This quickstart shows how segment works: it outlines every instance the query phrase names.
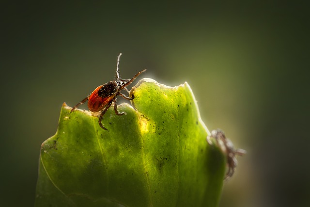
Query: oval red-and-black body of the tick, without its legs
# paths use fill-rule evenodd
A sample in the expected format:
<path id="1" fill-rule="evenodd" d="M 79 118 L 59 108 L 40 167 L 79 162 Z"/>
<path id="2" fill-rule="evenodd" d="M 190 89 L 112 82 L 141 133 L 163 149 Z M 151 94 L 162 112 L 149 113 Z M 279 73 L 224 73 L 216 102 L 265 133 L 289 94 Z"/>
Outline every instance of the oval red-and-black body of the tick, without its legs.
<path id="1" fill-rule="evenodd" d="M 115 98 L 118 89 L 119 86 L 114 80 L 98 86 L 88 98 L 89 110 L 93 112 L 103 110 Z"/>

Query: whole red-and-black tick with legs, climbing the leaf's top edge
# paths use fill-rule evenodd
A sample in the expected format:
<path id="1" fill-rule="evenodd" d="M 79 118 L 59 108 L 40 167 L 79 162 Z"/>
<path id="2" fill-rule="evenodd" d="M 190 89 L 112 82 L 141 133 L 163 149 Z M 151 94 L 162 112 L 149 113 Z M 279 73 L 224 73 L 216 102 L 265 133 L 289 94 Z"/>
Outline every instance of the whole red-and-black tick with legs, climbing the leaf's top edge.
<path id="1" fill-rule="evenodd" d="M 135 98 L 134 95 L 131 97 L 125 96 L 122 94 L 122 90 L 125 90 L 129 93 L 128 89 L 126 88 L 130 85 L 141 73 L 146 71 L 146 69 L 141 70 L 137 73 L 132 79 L 121 79 L 119 74 L 119 64 L 120 64 L 120 57 L 122 53 L 119 54 L 117 57 L 117 65 L 116 65 L 116 73 L 114 80 L 111 80 L 103 85 L 98 86 L 93 90 L 93 92 L 88 95 L 86 98 L 81 100 L 77 105 L 75 105 L 70 113 L 74 111 L 80 104 L 85 103 L 88 101 L 88 109 L 92 112 L 102 111 L 99 116 L 99 126 L 105 130 L 108 130 L 104 127 L 101 123 L 103 115 L 105 115 L 106 111 L 109 109 L 112 103 L 114 103 L 114 111 L 116 115 L 124 115 L 125 112 L 117 111 L 117 96 L 122 96 L 124 99 L 133 100 Z"/>

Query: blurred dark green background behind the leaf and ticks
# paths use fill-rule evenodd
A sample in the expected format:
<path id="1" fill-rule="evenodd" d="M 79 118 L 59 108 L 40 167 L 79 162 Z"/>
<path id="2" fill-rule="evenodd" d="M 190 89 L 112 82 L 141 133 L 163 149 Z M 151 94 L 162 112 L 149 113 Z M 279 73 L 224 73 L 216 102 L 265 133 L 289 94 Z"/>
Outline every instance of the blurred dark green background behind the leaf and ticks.
<path id="1" fill-rule="evenodd" d="M 1 7 L 0 206 L 33 206 L 40 145 L 56 132 L 62 103 L 73 106 L 112 80 L 120 52 L 123 78 L 147 68 L 139 79 L 187 81 L 206 126 L 247 149 L 220 207 L 310 206 L 306 3 Z"/>

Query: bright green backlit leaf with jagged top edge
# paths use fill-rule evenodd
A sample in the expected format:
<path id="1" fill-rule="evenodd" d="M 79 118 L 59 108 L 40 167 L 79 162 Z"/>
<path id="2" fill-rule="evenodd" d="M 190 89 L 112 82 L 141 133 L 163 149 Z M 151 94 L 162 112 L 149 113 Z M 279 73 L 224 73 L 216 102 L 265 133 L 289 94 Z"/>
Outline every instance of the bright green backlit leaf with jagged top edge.
<path id="1" fill-rule="evenodd" d="M 135 99 L 111 107 L 103 125 L 63 104 L 59 127 L 41 147 L 36 207 L 216 207 L 226 159 L 187 83 L 142 79 Z"/>

